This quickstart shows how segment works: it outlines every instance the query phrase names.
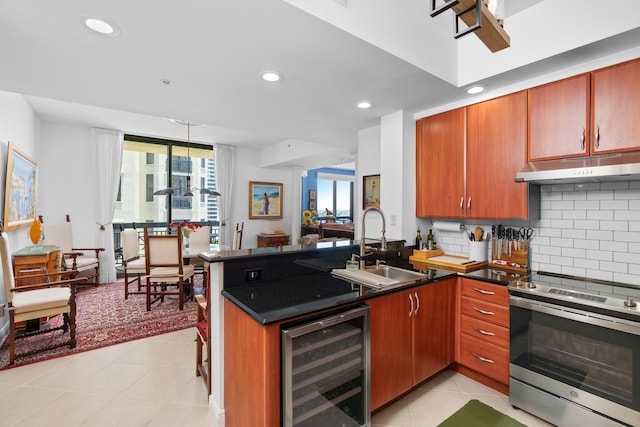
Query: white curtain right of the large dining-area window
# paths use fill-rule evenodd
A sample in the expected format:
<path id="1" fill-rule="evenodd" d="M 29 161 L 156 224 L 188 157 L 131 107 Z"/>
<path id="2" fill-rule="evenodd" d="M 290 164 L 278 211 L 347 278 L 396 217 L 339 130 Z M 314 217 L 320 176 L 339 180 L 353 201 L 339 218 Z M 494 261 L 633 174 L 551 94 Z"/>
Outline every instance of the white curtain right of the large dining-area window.
<path id="1" fill-rule="evenodd" d="M 216 144 L 215 150 L 215 174 L 218 193 L 222 194 L 218 198 L 218 211 L 220 213 L 220 245 L 225 248 L 231 247 L 232 231 L 235 230 L 231 221 L 231 204 L 233 194 L 235 147 L 230 145 Z"/>

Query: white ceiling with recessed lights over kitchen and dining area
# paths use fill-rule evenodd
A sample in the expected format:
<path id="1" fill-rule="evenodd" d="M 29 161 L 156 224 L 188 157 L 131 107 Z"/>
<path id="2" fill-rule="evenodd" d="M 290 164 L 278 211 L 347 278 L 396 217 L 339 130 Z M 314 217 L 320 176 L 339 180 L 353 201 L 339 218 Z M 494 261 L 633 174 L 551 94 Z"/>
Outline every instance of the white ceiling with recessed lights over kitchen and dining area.
<path id="1" fill-rule="evenodd" d="M 454 40 L 450 12 L 429 17 L 430 1 L 0 0 L 0 90 L 26 95 L 43 120 L 186 139 L 163 120 L 174 118 L 207 124 L 192 141 L 329 146 L 326 159 L 272 163 L 317 167 L 355 153 L 358 130 L 381 116 L 463 99 L 459 86 L 499 88 L 640 46 L 637 0 L 612 12 L 595 0 L 505 0 L 512 46 L 496 54 L 473 35 Z M 539 22 L 549 11 L 567 25 Z M 120 34 L 91 33 L 83 16 Z M 284 78 L 263 82 L 263 70 Z M 374 107 L 357 109 L 362 99 Z"/>

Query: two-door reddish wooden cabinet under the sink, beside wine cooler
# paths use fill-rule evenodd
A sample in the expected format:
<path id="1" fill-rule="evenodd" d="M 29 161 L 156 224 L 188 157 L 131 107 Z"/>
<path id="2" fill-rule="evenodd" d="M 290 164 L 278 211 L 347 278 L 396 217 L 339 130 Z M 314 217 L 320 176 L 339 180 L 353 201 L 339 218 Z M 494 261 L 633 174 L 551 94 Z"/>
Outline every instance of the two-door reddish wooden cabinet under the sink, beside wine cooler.
<path id="1" fill-rule="evenodd" d="M 372 410 L 453 362 L 454 295 L 446 279 L 367 301 Z"/>

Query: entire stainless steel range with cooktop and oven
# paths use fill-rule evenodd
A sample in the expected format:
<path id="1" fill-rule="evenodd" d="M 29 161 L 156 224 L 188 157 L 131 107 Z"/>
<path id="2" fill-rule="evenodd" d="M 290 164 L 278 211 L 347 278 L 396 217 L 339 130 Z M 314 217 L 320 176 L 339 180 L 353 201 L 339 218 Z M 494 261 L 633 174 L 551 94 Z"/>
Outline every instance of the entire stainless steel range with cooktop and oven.
<path id="1" fill-rule="evenodd" d="M 558 426 L 639 426 L 640 303 L 588 282 L 509 283 L 510 403 Z"/>

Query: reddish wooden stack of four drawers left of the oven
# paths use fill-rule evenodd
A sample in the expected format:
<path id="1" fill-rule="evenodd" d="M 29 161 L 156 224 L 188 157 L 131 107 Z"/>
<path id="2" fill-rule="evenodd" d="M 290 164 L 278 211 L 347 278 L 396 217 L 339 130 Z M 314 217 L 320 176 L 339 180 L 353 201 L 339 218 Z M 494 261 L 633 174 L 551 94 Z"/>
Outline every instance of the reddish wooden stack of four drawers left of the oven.
<path id="1" fill-rule="evenodd" d="M 509 384 L 509 292 L 460 278 L 456 369 L 500 392 Z"/>

